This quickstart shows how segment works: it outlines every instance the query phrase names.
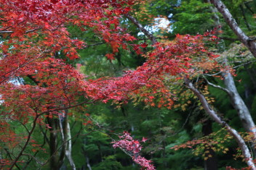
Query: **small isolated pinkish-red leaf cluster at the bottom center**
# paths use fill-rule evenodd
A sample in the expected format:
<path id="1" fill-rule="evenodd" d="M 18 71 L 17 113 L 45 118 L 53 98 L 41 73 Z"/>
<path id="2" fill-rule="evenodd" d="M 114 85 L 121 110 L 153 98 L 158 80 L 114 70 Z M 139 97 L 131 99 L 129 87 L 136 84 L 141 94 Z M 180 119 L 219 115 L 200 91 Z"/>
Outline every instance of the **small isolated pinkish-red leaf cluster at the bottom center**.
<path id="1" fill-rule="evenodd" d="M 151 164 L 150 160 L 147 160 L 146 158 L 143 158 L 139 155 L 140 150 L 143 148 L 140 145 L 139 140 L 134 140 L 129 132 L 123 132 L 123 135 L 119 136 L 119 138 L 119 141 L 113 142 L 113 148 L 121 148 L 125 150 L 125 152 L 129 154 L 129 156 L 132 156 L 132 159 L 133 161 L 135 161 L 135 163 L 143 167 L 142 169 L 155 169 L 155 167 Z M 143 137 L 143 140 L 141 142 L 145 143 L 145 141 L 146 139 Z"/>

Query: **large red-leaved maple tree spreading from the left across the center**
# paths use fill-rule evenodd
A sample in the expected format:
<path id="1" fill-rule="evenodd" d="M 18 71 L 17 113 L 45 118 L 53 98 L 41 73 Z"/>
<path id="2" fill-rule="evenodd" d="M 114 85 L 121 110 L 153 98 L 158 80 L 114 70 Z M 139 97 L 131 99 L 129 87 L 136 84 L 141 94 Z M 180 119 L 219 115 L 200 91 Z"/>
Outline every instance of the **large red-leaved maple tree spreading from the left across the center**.
<path id="1" fill-rule="evenodd" d="M 95 101 L 121 104 L 131 99 L 135 102 L 143 101 L 149 106 L 171 109 L 175 94 L 169 90 L 169 83 L 173 82 L 185 82 L 215 121 L 233 132 L 237 140 L 241 140 L 236 131 L 215 116 L 204 96 L 190 82 L 190 79 L 206 69 L 219 69 L 215 61 L 217 55 L 204 46 L 205 42 L 217 39 L 214 32 L 194 36 L 177 35 L 174 41 L 158 43 L 151 33 L 128 14 L 135 3 L 132 0 L 0 2 L 0 34 L 3 37 L 0 45 L 0 94 L 1 106 L 4 106 L 4 111 L 1 111 L 0 139 L 2 143 L 9 142 L 4 145 L 7 150 L 15 148 L 12 155 L 7 152 L 7 158 L 1 159 L 3 168 L 18 168 L 24 164 L 24 156 L 33 158 L 30 151 L 42 149 L 33 140 L 33 132 L 41 126 L 49 130 L 51 169 L 60 169 L 65 156 L 72 169 L 76 169 L 69 146 L 71 137 L 68 134 L 68 116 L 72 113 L 68 113 L 68 109 Z M 141 49 L 148 45 L 131 42 L 136 38 L 119 26 L 123 15 L 151 39 L 152 51 L 143 54 Z M 66 62 L 68 59 L 78 59 L 77 51 L 87 48 L 86 40 L 70 37 L 68 27 L 77 27 L 83 33 L 92 30 L 95 36 L 102 38 L 113 51 L 112 54 L 105 54 L 109 60 L 114 59 L 119 48 L 131 47 L 137 54 L 143 54 L 147 61 L 135 70 L 126 71 L 121 77 L 87 80 L 85 75 Z M 65 54 L 64 59 L 58 57 L 60 51 Z M 15 82 L 25 78 L 31 80 L 31 84 Z M 12 121 L 24 127 L 25 132 L 15 132 L 9 123 Z M 60 125 L 56 125 L 58 121 Z M 60 148 L 57 148 L 57 132 L 63 135 Z M 145 169 L 154 169 L 151 161 L 137 155 L 141 150 L 138 140 L 133 140 L 127 132 L 120 138 L 120 141 L 113 144 L 114 148 L 131 152 L 135 163 Z M 29 145 L 33 148 L 29 148 Z M 248 150 L 243 152 L 248 158 L 248 165 L 254 166 Z"/>

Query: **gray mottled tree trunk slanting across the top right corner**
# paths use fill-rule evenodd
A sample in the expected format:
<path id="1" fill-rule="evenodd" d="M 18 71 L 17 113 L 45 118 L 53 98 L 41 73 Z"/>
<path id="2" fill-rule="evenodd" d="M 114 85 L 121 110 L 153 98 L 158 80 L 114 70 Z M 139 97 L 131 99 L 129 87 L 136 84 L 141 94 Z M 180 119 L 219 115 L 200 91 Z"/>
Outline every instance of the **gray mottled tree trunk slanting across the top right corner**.
<path id="1" fill-rule="evenodd" d="M 229 12 L 228 8 L 225 7 L 225 4 L 223 4 L 220 0 L 210 0 L 212 4 L 215 5 L 217 10 L 220 12 L 220 14 L 223 15 L 225 22 L 228 24 L 229 27 L 233 30 L 233 33 L 237 35 L 239 38 L 239 41 L 241 43 L 244 43 L 244 46 L 247 46 L 249 51 L 251 51 L 252 55 L 256 58 L 256 43 L 255 40 L 252 38 L 249 38 L 243 30 L 239 27 L 236 20 L 233 18 L 231 12 Z"/>

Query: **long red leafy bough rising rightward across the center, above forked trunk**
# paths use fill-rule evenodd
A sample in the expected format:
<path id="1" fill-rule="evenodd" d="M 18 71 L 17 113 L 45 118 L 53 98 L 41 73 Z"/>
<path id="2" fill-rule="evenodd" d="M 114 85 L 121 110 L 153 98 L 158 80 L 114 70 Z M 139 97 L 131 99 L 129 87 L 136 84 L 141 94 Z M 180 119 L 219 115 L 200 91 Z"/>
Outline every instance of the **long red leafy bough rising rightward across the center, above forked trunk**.
<path id="1" fill-rule="evenodd" d="M 195 76 L 204 70 L 215 69 L 217 55 L 204 46 L 203 35 L 177 35 L 175 41 L 157 43 L 154 50 L 145 55 L 147 61 L 122 77 L 105 77 L 89 80 L 87 94 L 95 100 L 128 101 L 133 98 L 150 106 L 171 108 L 175 97 L 165 82 L 177 80 L 181 75 Z M 201 64 L 201 62 L 204 64 Z M 214 67 L 209 67 L 210 65 Z"/>

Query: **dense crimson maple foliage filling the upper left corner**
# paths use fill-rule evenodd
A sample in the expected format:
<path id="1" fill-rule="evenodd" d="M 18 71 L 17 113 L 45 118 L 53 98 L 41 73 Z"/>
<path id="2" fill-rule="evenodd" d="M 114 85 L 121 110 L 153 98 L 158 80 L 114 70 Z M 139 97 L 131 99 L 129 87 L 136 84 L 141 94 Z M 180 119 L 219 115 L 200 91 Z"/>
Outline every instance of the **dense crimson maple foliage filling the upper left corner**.
<path id="1" fill-rule="evenodd" d="M 126 48 L 131 35 L 119 27 L 121 14 L 129 12 L 132 0 L 62 0 L 0 1 L 1 43 L 0 82 L 19 75 L 31 62 L 63 51 L 70 59 L 78 58 L 76 49 L 86 42 L 70 38 L 67 27 L 76 25 L 82 31 L 92 29 L 110 43 L 113 52 Z M 114 27 L 113 27 L 114 25 Z M 20 71 L 21 72 L 21 71 Z"/>

